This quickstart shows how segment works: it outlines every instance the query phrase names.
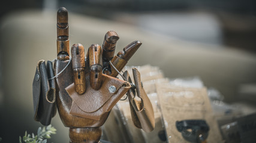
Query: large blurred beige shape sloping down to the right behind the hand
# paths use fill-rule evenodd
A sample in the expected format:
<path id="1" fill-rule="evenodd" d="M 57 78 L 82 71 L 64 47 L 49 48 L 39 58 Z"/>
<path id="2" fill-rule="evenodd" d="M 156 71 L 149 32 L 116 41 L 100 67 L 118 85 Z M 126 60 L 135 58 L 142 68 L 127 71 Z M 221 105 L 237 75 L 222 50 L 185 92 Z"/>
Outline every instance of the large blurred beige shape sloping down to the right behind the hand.
<path id="1" fill-rule="evenodd" d="M 115 30 L 120 39 L 116 51 L 139 40 L 143 44 L 128 65 L 159 66 L 166 77 L 199 76 L 206 86 L 236 101 L 241 83 L 256 82 L 256 56 L 245 51 L 167 38 L 138 27 L 70 13 L 70 43 L 102 44 L 105 33 Z M 0 25 L 2 91 L 0 136 L 3 142 L 18 141 L 25 130 L 36 132 L 33 119 L 32 80 L 38 60 L 56 58 L 56 12 L 19 11 L 6 15 Z M 207 48 L 205 48 L 207 46 Z M 58 114 L 53 142 L 67 142 L 68 129 Z M 7 138 L 7 140 L 6 140 Z"/>

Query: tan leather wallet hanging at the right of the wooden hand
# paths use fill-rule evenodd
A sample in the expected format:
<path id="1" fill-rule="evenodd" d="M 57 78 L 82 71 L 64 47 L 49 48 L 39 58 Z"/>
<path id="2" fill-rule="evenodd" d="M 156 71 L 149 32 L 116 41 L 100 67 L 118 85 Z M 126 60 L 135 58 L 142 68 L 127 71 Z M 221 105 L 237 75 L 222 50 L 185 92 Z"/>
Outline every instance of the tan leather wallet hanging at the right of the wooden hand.
<path id="1" fill-rule="evenodd" d="M 137 128 L 143 129 L 145 132 L 151 132 L 155 128 L 155 117 L 153 107 L 144 91 L 143 84 L 140 80 L 140 72 L 133 68 L 135 87 L 129 89 L 128 98 L 131 110 L 132 122 Z M 128 82 L 132 83 L 128 71 L 124 72 L 124 77 Z"/>

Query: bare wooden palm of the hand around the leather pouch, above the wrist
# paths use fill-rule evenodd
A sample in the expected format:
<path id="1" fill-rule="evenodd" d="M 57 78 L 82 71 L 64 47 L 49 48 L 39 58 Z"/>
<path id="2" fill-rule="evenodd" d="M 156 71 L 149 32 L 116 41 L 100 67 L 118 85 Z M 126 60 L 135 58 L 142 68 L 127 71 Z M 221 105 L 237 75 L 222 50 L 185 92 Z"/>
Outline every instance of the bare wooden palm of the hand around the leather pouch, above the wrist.
<path id="1" fill-rule="evenodd" d="M 54 70 L 55 75 L 58 74 L 65 66 L 68 60 L 55 60 Z M 86 73 L 88 71 L 86 70 Z M 72 99 L 68 95 L 65 88 L 74 82 L 73 69 L 71 64 L 56 78 L 56 104 L 58 107 L 59 116 L 64 126 L 69 128 L 96 128 L 102 126 L 109 116 L 109 112 L 103 114 L 100 120 L 86 119 L 83 117 L 73 116 L 70 114 Z"/>

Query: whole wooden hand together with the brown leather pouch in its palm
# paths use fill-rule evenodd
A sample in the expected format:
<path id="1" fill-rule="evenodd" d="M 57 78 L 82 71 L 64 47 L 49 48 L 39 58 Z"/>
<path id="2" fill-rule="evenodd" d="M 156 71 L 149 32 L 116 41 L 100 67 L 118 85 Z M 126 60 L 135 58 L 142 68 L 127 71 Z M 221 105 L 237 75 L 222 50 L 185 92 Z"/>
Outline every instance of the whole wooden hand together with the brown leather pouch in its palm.
<path id="1" fill-rule="evenodd" d="M 59 116 L 64 126 L 70 128 L 70 142 L 98 142 L 100 127 L 111 108 L 131 88 L 128 82 L 116 78 L 118 71 L 124 68 L 141 43 L 134 41 L 114 56 L 119 36 L 109 31 L 102 47 L 91 45 L 85 57 L 83 45 L 76 43 L 70 56 L 65 8 L 57 13 L 57 35 L 58 58 L 53 69 L 55 75 L 58 74 L 56 104 Z"/>

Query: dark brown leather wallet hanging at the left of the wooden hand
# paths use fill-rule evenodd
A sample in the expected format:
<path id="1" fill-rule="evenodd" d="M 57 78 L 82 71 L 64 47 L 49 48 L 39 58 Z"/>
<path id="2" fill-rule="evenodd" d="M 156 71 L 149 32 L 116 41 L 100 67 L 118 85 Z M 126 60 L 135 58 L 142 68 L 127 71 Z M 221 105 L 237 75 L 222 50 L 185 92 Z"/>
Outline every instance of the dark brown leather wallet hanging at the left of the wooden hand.
<path id="1" fill-rule="evenodd" d="M 38 61 L 33 81 L 34 120 L 42 125 L 50 125 L 52 117 L 56 114 L 56 87 L 52 62 L 47 66 L 44 60 Z"/>

